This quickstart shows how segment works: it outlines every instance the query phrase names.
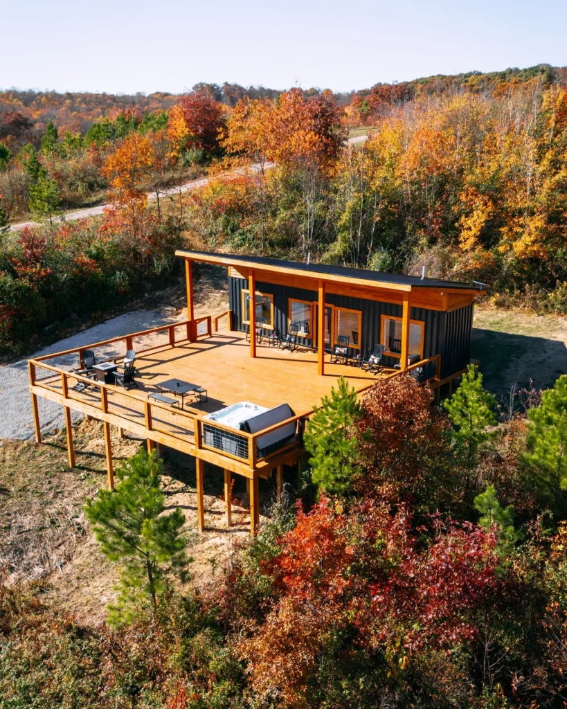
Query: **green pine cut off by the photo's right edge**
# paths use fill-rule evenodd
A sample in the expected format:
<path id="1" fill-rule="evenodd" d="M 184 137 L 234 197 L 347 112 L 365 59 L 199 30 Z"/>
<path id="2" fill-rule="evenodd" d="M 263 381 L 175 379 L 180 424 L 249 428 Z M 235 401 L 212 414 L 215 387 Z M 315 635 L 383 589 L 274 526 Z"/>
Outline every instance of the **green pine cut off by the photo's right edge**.
<path id="1" fill-rule="evenodd" d="M 549 491 L 567 489 L 567 375 L 541 394 L 541 404 L 527 412 L 526 462 Z"/>

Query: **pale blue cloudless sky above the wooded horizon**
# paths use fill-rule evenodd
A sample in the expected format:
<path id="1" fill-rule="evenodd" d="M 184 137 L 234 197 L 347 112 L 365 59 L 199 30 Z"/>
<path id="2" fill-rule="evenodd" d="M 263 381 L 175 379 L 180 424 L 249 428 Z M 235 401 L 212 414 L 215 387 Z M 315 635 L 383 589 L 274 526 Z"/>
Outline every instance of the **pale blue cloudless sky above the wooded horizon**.
<path id="1" fill-rule="evenodd" d="M 567 65 L 567 0 L 19 0 L 0 87 L 172 91 L 198 81 L 347 91 L 430 74 Z"/>

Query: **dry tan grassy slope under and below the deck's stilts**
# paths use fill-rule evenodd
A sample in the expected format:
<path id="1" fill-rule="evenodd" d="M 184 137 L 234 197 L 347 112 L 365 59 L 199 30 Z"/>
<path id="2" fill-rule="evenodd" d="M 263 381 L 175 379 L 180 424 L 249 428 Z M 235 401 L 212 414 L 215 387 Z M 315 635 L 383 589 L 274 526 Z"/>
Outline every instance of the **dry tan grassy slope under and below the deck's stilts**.
<path id="1" fill-rule="evenodd" d="M 69 469 L 64 432 L 42 445 L 7 442 L 0 447 L 0 568 L 11 579 L 40 579 L 47 599 L 85 623 L 97 623 L 113 601 L 117 576 L 99 552 L 83 506 L 106 486 L 106 460 L 101 423 L 74 427 L 76 467 Z M 113 430 L 115 466 L 133 455 L 145 441 Z M 237 540 L 249 535 L 249 499 L 244 479 L 235 476 L 232 527 L 225 520 L 223 472 L 206 466 L 206 531 L 196 533 L 196 478 L 191 458 L 165 449 L 162 487 L 167 508 L 183 510 L 192 562 L 191 584 L 206 593 L 225 568 Z M 288 471 L 289 480 L 293 471 Z M 261 514 L 275 496 L 275 480 L 260 481 Z"/>

